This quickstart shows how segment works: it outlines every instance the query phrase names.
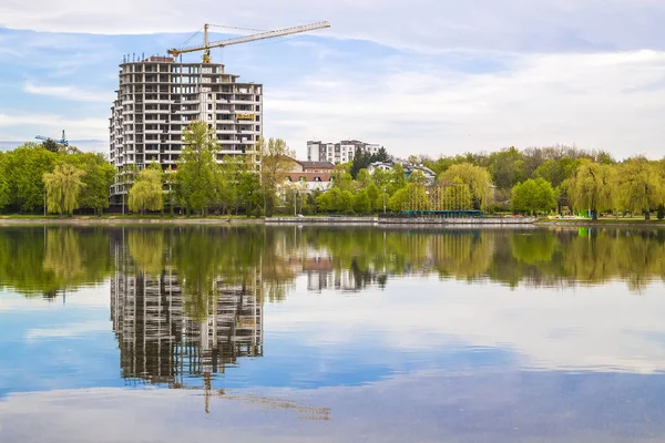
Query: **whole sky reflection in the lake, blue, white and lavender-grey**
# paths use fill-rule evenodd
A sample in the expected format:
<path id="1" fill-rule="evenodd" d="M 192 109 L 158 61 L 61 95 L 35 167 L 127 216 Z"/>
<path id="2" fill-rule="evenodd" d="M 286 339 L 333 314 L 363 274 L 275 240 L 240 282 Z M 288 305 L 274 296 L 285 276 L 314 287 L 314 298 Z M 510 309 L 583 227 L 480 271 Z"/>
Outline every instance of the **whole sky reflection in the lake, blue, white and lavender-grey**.
<path id="1" fill-rule="evenodd" d="M 640 296 L 624 282 L 510 289 L 433 277 L 362 292 L 306 288 L 299 277 L 284 302 L 265 305 L 264 357 L 215 377 L 214 388 L 238 398 L 213 398 L 209 414 L 201 391 L 124 389 L 133 383 L 120 377 L 109 285 L 65 305 L 0 293 L 0 441 L 37 432 L 55 443 L 647 442 L 665 433 L 662 284 Z M 328 408 L 331 420 L 300 420 L 296 404 Z"/>

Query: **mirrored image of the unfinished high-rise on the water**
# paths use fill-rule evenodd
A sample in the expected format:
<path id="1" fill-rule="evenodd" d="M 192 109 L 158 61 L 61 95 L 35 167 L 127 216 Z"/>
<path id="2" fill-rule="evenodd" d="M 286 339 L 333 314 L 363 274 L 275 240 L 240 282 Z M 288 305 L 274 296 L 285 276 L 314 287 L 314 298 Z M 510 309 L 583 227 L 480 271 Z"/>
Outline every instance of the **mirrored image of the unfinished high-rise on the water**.
<path id="1" fill-rule="evenodd" d="M 239 357 L 263 356 L 263 302 L 255 289 L 219 288 L 209 298 L 187 297 L 174 272 L 116 272 L 111 317 L 123 377 L 201 384 Z"/>

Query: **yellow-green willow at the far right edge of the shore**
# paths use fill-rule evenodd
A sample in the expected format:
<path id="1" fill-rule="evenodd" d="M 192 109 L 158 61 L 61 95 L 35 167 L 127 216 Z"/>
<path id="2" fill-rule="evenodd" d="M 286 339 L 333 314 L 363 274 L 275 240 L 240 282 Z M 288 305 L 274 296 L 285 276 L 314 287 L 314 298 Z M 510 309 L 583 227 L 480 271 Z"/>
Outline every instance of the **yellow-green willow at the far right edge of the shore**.
<path id="1" fill-rule="evenodd" d="M 632 213 L 643 213 L 651 218 L 651 210 L 665 202 L 665 183 L 658 167 L 644 157 L 623 163 L 616 174 L 617 204 Z"/>

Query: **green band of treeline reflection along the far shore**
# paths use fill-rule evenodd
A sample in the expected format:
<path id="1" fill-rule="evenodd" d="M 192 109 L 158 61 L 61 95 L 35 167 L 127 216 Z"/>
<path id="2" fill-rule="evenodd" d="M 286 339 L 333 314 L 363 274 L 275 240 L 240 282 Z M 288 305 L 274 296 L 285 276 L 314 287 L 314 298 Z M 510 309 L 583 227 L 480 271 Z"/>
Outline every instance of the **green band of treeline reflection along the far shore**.
<path id="1" fill-rule="evenodd" d="M 217 287 L 257 286 L 287 297 L 303 276 L 313 291 L 383 287 L 391 277 L 491 280 L 511 287 L 665 278 L 665 230 L 383 230 L 330 227 L 22 227 L 0 229 L 0 286 L 54 297 L 116 272 L 171 275 L 200 318 Z"/>

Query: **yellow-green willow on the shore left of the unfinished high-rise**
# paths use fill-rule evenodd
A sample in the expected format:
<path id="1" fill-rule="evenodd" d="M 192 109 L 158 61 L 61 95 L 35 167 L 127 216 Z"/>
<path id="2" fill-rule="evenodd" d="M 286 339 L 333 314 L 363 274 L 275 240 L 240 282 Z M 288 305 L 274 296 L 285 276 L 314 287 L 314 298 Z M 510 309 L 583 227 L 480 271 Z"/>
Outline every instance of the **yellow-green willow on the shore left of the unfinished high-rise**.
<path id="1" fill-rule="evenodd" d="M 47 188 L 47 208 L 51 214 L 73 214 L 79 208 L 84 171 L 70 164 L 57 165 L 52 173 L 43 175 Z"/>

